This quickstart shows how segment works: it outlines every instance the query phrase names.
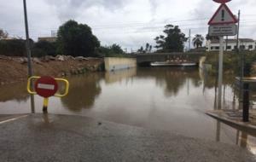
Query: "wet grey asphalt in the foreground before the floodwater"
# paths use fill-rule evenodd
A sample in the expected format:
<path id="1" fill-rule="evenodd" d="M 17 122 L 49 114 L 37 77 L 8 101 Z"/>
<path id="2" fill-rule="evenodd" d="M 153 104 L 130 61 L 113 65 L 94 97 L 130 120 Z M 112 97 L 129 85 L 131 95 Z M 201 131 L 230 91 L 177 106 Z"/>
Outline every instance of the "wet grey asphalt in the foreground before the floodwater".
<path id="1" fill-rule="evenodd" d="M 71 115 L 0 124 L 1 161 L 255 161 L 247 149 Z"/>

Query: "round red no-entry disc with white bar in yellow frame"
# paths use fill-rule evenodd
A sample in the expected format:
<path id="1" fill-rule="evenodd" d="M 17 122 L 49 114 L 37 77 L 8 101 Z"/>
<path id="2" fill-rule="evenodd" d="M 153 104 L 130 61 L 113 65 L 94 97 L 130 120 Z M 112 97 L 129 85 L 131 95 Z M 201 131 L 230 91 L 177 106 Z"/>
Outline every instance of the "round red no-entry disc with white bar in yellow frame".
<path id="1" fill-rule="evenodd" d="M 58 90 L 58 84 L 55 78 L 41 77 L 38 78 L 35 84 L 35 90 L 38 95 L 48 98 L 49 96 L 55 95 Z"/>

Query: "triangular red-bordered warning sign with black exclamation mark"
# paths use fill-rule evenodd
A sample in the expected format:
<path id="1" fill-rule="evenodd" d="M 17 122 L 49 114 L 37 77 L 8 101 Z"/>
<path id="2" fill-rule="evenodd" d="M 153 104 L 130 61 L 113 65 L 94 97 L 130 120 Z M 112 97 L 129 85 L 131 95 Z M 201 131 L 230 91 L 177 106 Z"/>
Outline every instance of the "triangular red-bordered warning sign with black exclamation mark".
<path id="1" fill-rule="evenodd" d="M 237 21 L 236 16 L 232 14 L 228 6 L 225 3 L 222 3 L 216 13 L 213 14 L 208 25 L 236 24 Z"/>

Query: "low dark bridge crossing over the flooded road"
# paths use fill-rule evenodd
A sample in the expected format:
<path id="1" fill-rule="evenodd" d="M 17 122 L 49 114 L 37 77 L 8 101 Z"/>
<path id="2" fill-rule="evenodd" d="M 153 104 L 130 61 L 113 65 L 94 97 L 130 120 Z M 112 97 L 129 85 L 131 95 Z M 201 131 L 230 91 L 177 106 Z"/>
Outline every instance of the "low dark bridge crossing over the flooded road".
<path id="1" fill-rule="evenodd" d="M 154 61 L 166 61 L 174 59 L 183 59 L 187 61 L 194 61 L 198 63 L 204 52 L 188 52 L 188 53 L 150 53 L 150 54 L 134 54 L 137 58 L 137 64 L 145 64 Z"/>

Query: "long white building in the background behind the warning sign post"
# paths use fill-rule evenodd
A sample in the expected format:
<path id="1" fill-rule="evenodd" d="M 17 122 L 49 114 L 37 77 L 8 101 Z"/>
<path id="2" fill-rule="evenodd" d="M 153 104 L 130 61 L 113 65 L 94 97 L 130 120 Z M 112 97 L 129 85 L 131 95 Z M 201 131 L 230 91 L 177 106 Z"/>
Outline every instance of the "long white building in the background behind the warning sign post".
<path id="1" fill-rule="evenodd" d="M 256 42 L 250 38 L 241 38 L 239 39 L 239 46 L 240 46 L 240 49 L 255 50 Z M 219 40 L 212 40 L 212 41 L 208 40 L 206 47 L 207 47 L 207 51 L 219 50 Z M 232 51 L 235 49 L 236 49 L 236 39 L 224 40 L 224 50 Z"/>

